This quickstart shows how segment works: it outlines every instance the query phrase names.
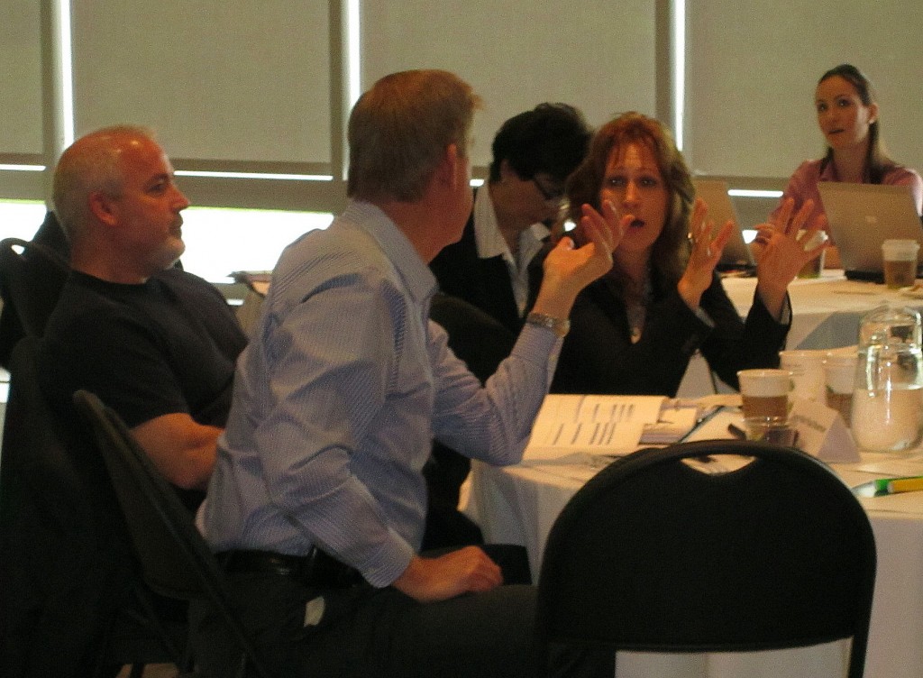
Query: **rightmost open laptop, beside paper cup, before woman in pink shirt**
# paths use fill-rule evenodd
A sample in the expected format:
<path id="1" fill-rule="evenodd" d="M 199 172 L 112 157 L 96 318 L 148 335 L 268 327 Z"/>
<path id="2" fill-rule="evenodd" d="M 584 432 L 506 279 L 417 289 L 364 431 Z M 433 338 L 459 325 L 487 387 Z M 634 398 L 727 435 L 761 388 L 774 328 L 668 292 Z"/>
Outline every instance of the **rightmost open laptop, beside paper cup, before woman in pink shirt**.
<path id="1" fill-rule="evenodd" d="M 850 280 L 883 280 L 884 240 L 917 240 L 923 248 L 923 228 L 909 187 L 821 181 L 817 188 Z"/>

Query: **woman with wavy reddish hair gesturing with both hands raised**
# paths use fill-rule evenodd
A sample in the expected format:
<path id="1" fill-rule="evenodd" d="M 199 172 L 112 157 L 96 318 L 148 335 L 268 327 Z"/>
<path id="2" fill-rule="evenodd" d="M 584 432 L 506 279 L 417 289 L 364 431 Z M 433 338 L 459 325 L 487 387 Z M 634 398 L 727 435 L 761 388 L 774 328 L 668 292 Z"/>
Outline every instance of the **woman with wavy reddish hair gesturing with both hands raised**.
<path id="1" fill-rule="evenodd" d="M 624 231 L 611 272 L 586 287 L 570 313 L 552 390 L 675 395 L 701 350 L 737 388 L 737 370 L 778 366 L 791 320 L 788 284 L 825 246 L 803 248 L 823 219 L 791 201 L 755 245 L 757 287 L 746 321 L 714 267 L 734 224 L 713 233 L 689 169 L 669 131 L 638 113 L 620 115 L 593 137 L 569 178 L 569 217 Z M 798 241 L 797 232 L 807 233 Z"/>

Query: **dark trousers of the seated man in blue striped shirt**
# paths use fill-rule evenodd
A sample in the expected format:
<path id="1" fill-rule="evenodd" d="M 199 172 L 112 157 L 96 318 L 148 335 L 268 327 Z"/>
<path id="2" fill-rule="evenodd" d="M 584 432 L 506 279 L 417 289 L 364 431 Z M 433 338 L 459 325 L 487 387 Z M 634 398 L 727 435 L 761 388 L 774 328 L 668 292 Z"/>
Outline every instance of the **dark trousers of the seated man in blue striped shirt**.
<path id="1" fill-rule="evenodd" d="M 503 586 L 423 604 L 391 587 L 318 589 L 275 573 L 230 576 L 244 624 L 278 676 L 535 675 L 534 587 Z M 193 602 L 190 624 L 199 670 L 233 675 L 240 653 L 228 645 L 233 641 L 220 620 Z M 611 653 L 580 663 L 581 670 L 569 666 L 566 674 L 614 675 Z"/>

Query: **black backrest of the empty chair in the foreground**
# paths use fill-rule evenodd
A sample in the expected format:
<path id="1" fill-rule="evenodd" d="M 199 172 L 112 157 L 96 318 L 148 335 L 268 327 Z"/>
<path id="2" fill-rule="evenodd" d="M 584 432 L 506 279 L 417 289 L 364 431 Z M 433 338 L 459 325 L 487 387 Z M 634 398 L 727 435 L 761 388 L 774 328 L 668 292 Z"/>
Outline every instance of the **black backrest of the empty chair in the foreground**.
<path id="1" fill-rule="evenodd" d="M 718 474 L 684 462 L 720 454 L 753 459 Z M 855 678 L 875 568 L 868 516 L 814 457 L 737 441 L 641 450 L 591 479 L 552 527 L 539 646 L 720 652 L 851 637 Z"/>

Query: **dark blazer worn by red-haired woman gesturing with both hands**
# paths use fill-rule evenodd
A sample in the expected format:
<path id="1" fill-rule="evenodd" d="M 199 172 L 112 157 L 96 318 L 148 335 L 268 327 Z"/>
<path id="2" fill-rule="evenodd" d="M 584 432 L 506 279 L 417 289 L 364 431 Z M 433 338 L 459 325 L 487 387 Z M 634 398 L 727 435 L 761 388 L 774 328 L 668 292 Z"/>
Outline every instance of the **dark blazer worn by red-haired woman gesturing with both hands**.
<path id="1" fill-rule="evenodd" d="M 625 305 L 612 281 L 601 278 L 587 286 L 570 312 L 570 333 L 551 390 L 672 397 L 696 350 L 735 389 L 738 369 L 778 367 L 788 325 L 776 322 L 758 295 L 741 321 L 714 275 L 701 297 L 711 327 L 689 310 L 675 285 L 659 287 L 654 284 L 641 339 L 632 344 Z"/>

